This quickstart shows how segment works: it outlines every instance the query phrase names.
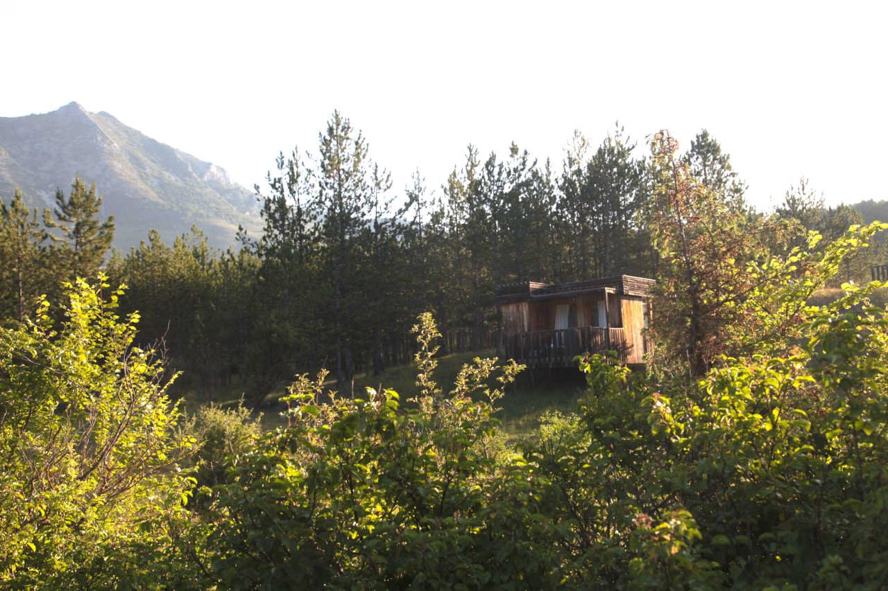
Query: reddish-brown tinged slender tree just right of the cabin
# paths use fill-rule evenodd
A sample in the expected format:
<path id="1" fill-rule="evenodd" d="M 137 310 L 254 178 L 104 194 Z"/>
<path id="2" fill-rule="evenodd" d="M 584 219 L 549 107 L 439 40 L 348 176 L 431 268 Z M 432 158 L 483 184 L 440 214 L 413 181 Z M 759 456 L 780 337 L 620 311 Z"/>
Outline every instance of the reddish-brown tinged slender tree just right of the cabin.
<path id="1" fill-rule="evenodd" d="M 747 262 L 767 255 L 763 232 L 733 202 L 700 183 L 678 142 L 661 131 L 652 141 L 654 197 L 648 220 L 660 268 L 652 304 L 661 359 L 678 360 L 691 377 L 718 355 L 732 353 L 725 332 L 737 325 L 737 306 L 753 287 Z"/>

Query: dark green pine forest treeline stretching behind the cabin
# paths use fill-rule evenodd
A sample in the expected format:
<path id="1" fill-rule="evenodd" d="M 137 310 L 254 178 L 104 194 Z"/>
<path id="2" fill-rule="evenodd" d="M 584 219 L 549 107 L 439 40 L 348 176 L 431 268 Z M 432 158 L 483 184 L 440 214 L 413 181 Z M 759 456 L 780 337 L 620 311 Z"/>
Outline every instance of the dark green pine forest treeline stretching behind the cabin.
<path id="1" fill-rule="evenodd" d="M 486 157 L 469 146 L 440 188 L 417 173 L 398 192 L 361 132 L 335 113 L 313 154 L 281 154 L 257 187 L 261 236 L 242 232 L 238 248 L 221 252 L 198 228 L 171 243 L 151 232 L 105 268 L 128 286 L 122 309 L 141 314 L 143 344 L 163 341 L 190 387 L 234 383 L 258 401 L 320 367 L 345 386 L 355 371 L 411 359 L 409 327 L 422 311 L 438 319 L 445 351 L 489 346 L 497 285 L 657 278 L 662 211 L 653 157 L 636 148 L 621 129 L 599 146 L 576 134 L 556 170 L 518 146 Z M 712 231 L 722 225 L 739 240 L 725 248 L 785 253 L 805 245 L 808 230 L 831 240 L 860 223 L 851 207 L 824 207 L 804 180 L 773 214 L 749 209 L 730 157 L 705 130 L 678 158 L 725 205 Z M 59 193 L 54 214 L 28 211 L 18 195 L 4 202 L 0 316 L 22 319 L 62 280 L 95 276 L 113 230 L 97 202 L 80 179 L 69 197 Z M 866 279 L 870 262 L 847 263 L 842 279 Z"/>

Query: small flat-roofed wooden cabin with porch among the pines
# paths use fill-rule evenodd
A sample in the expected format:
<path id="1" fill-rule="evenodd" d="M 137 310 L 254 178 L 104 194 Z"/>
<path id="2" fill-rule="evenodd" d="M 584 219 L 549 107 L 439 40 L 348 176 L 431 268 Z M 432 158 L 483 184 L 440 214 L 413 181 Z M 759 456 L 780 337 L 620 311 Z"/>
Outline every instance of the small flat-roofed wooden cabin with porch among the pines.
<path id="1" fill-rule="evenodd" d="M 644 363 L 650 343 L 648 290 L 654 280 L 630 275 L 496 289 L 503 314 L 503 354 L 528 367 L 573 367 L 585 353 L 616 351 L 625 364 Z"/>

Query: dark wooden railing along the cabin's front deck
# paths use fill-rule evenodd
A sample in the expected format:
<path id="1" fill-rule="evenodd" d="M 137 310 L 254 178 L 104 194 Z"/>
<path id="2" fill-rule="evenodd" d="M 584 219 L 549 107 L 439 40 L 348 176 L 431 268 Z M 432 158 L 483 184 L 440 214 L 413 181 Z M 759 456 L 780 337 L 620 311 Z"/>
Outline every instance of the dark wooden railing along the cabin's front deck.
<path id="1" fill-rule="evenodd" d="M 626 336 L 622 328 L 577 327 L 535 330 L 503 335 L 506 359 L 530 367 L 571 367 L 585 353 L 616 351 L 626 361 Z"/>

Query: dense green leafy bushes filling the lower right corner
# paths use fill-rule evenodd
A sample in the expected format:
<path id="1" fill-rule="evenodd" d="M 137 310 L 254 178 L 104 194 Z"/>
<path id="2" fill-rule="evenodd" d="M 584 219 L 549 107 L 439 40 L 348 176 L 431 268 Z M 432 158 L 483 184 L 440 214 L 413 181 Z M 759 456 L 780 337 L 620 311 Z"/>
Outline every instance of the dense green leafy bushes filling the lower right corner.
<path id="1" fill-rule="evenodd" d="M 886 324 L 823 311 L 791 357 L 727 360 L 684 390 L 583 363 L 580 414 L 549 417 L 527 450 L 572 532 L 574 580 L 884 588 Z"/>

